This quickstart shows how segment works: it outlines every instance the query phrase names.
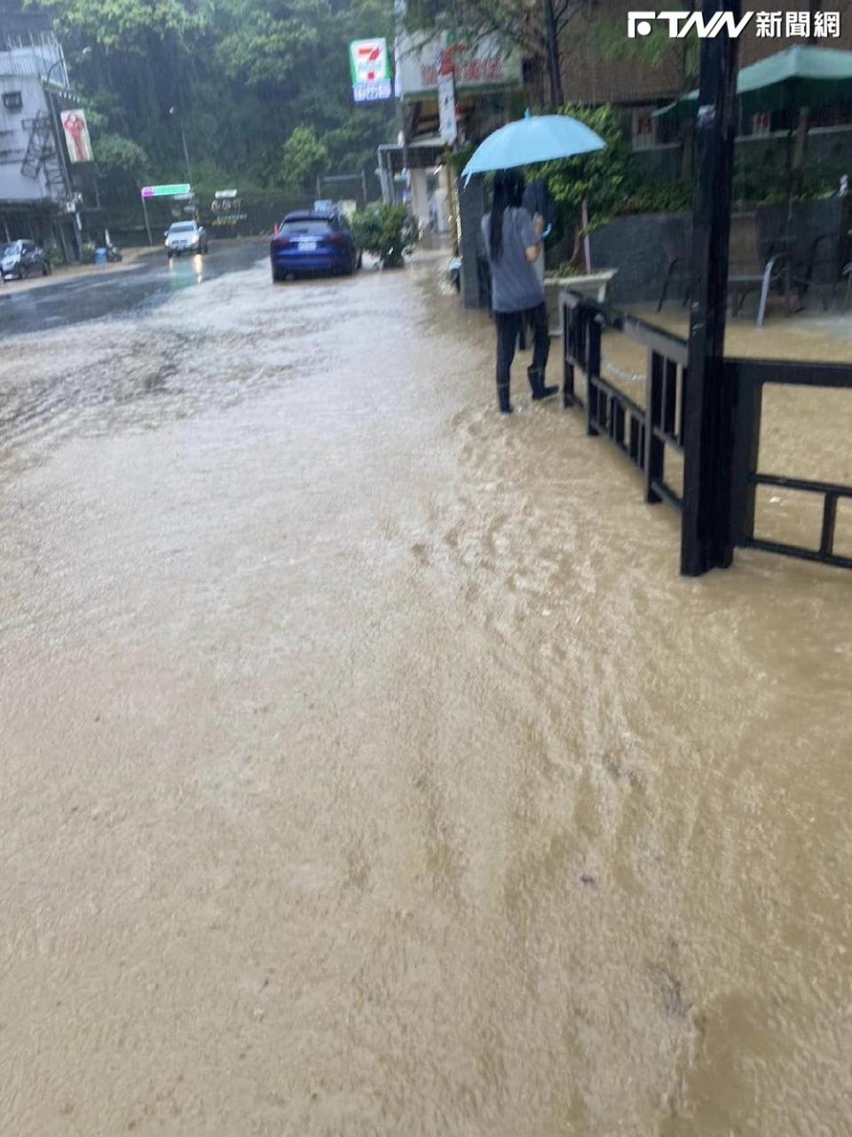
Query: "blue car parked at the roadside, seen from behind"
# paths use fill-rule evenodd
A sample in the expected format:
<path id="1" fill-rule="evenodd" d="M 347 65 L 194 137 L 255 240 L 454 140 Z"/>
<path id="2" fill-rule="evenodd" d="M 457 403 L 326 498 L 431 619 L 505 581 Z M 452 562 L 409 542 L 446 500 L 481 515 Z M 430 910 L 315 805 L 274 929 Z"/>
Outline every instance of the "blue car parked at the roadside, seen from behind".
<path id="1" fill-rule="evenodd" d="M 269 243 L 273 280 L 299 273 L 345 273 L 361 267 L 361 252 L 340 213 L 290 213 Z"/>

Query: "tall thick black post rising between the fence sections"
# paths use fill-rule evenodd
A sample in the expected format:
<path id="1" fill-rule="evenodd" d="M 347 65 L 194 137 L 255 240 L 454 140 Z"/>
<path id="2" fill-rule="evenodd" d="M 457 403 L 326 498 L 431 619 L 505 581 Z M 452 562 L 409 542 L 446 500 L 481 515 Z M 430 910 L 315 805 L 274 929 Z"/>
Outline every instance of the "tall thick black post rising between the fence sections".
<path id="1" fill-rule="evenodd" d="M 703 0 L 740 19 L 740 0 Z M 733 399 L 725 382 L 725 305 L 736 135 L 737 41 L 727 30 L 701 41 L 695 123 L 690 358 L 684 383 L 684 496 L 680 572 L 699 576 L 733 558 Z"/>

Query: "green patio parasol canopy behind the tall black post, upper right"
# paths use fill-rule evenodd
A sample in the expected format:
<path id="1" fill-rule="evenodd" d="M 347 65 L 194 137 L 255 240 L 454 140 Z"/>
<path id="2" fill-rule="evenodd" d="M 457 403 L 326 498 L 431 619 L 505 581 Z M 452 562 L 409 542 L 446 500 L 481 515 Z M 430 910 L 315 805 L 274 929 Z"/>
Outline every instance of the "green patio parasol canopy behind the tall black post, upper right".
<path id="1" fill-rule="evenodd" d="M 736 93 L 744 116 L 852 102 L 852 51 L 799 47 L 778 51 L 737 75 Z M 660 107 L 654 117 L 692 118 L 699 92 Z"/>

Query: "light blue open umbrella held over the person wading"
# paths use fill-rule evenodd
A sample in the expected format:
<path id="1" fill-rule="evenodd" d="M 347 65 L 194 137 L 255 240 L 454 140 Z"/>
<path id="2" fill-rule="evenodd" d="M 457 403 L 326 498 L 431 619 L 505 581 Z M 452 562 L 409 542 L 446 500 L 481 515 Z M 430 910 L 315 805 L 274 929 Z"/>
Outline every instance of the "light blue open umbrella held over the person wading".
<path id="1" fill-rule="evenodd" d="M 602 138 L 576 118 L 568 115 L 531 115 L 527 110 L 519 122 L 508 123 L 490 134 L 477 147 L 461 176 L 467 185 L 474 174 L 573 158 L 578 153 L 604 150 L 605 147 Z"/>

